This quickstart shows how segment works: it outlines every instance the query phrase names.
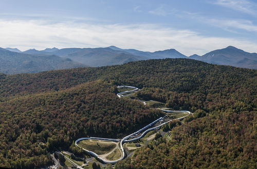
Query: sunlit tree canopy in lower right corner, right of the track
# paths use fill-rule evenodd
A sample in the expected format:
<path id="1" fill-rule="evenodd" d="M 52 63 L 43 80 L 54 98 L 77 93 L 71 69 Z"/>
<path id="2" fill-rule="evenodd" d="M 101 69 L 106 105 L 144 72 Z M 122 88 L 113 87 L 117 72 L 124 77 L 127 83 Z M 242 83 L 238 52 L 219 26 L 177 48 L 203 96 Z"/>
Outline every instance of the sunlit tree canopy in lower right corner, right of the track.
<path id="1" fill-rule="evenodd" d="M 217 112 L 176 126 L 116 168 L 256 168 L 256 112 Z M 256 120 L 256 119 L 255 119 Z"/>

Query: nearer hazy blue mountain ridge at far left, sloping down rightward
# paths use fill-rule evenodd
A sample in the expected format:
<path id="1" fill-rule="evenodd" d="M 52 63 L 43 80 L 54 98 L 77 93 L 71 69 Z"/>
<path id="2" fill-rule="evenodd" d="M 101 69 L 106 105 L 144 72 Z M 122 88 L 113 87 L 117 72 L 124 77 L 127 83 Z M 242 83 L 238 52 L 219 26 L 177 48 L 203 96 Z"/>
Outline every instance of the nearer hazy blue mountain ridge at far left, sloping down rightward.
<path id="1" fill-rule="evenodd" d="M 0 48 L 0 72 L 5 74 L 36 73 L 78 67 L 85 65 L 56 55 L 32 55 Z"/>

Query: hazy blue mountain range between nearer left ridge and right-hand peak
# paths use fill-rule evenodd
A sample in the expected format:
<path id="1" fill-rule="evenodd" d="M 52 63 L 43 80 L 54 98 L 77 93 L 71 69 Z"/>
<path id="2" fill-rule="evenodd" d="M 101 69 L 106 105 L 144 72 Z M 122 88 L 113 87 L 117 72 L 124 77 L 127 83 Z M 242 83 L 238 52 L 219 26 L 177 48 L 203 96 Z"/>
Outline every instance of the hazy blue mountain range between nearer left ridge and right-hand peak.
<path id="1" fill-rule="evenodd" d="M 121 49 L 115 46 L 107 48 L 64 48 L 64 49 L 45 49 L 38 51 L 29 49 L 22 53 L 58 55 L 60 57 L 71 58 L 81 64 L 90 67 L 121 65 L 129 61 L 162 59 L 162 58 L 187 58 L 175 49 L 156 52 L 143 52 L 135 49 Z"/>

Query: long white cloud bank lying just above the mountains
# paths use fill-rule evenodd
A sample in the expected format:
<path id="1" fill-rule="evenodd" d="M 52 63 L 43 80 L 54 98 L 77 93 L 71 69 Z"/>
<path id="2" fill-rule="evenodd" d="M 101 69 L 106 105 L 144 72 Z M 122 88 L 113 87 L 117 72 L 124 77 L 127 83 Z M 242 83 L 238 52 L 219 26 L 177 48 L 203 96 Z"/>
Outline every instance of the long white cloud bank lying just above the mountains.
<path id="1" fill-rule="evenodd" d="M 1 20 L 0 47 L 21 50 L 48 47 L 134 48 L 157 51 L 174 48 L 179 52 L 205 54 L 229 45 L 248 52 L 256 51 L 256 42 L 245 39 L 208 37 L 190 30 L 177 30 L 158 25 L 99 25 L 77 22 L 49 22 L 48 20 Z M 255 51 L 254 51 L 255 50 Z"/>

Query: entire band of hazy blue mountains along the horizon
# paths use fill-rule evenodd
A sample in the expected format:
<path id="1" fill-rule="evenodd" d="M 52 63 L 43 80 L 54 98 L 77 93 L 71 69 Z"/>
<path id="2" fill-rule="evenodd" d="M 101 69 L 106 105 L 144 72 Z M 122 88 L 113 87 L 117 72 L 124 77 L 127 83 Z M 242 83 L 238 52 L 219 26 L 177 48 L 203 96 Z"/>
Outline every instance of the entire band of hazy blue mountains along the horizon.
<path id="1" fill-rule="evenodd" d="M 1 48 L 0 72 L 6 74 L 35 73 L 86 66 L 121 65 L 130 61 L 163 58 L 190 58 L 210 64 L 257 69 L 256 53 L 248 53 L 232 46 L 211 51 L 203 56 L 189 57 L 175 49 L 144 52 L 110 46 L 107 48 L 47 48 L 41 51 L 29 49 L 23 52 L 16 48 Z"/>

